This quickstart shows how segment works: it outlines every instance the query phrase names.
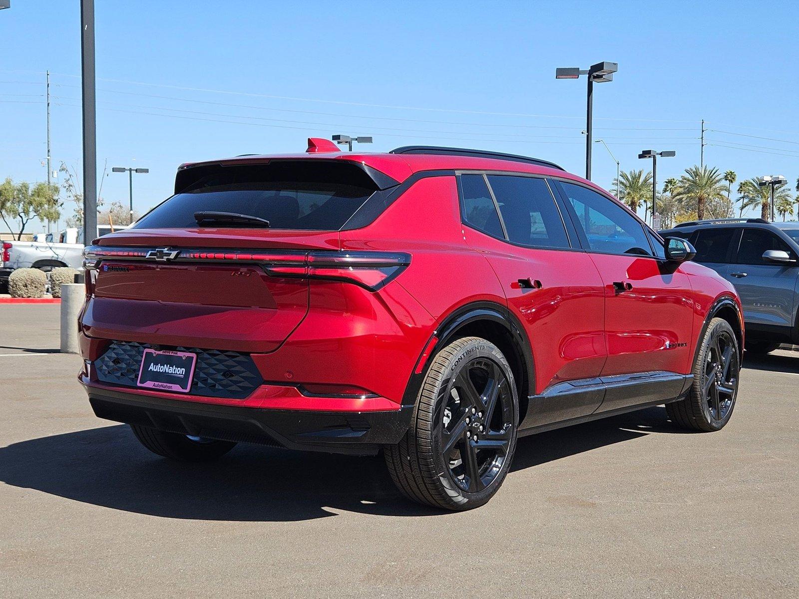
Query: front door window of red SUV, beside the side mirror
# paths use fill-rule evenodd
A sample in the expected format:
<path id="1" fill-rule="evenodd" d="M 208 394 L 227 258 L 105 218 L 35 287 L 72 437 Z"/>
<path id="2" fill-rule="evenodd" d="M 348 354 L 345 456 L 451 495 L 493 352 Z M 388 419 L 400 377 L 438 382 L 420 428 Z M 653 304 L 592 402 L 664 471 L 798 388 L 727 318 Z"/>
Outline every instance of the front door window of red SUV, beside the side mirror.
<path id="1" fill-rule="evenodd" d="M 630 212 L 581 185 L 561 185 L 594 252 L 652 256 L 644 228 Z"/>

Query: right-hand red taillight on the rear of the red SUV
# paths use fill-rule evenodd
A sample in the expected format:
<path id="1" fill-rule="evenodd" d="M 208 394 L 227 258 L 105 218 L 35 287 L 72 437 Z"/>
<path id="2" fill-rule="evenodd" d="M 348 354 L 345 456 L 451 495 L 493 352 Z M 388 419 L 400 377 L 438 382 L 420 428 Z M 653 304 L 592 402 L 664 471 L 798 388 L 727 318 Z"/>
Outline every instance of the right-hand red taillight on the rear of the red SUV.
<path id="1" fill-rule="evenodd" d="M 377 291 L 400 274 L 411 256 L 392 252 L 308 252 L 305 264 L 269 264 L 272 275 L 340 280 Z"/>

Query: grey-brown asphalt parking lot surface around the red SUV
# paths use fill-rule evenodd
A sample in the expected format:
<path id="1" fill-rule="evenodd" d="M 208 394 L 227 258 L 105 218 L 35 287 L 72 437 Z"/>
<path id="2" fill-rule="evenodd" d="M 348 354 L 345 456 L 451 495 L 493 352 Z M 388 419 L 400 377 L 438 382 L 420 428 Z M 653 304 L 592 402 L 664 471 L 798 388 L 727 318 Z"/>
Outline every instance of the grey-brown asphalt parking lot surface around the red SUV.
<path id="1" fill-rule="evenodd" d="M 381 458 L 149 454 L 96 419 L 58 305 L 0 306 L 4 597 L 797 597 L 799 353 L 749 356 L 737 407 L 528 437 L 479 510 L 406 502 Z"/>

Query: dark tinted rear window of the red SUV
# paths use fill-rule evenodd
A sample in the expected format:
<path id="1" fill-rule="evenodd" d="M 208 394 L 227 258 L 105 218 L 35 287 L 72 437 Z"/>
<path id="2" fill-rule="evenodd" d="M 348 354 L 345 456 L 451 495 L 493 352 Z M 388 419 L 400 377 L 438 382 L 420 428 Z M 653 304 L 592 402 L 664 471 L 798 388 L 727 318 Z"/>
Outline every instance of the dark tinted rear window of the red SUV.
<path id="1" fill-rule="evenodd" d="M 195 212 L 232 212 L 268 220 L 272 229 L 336 231 L 376 191 L 366 173 L 346 163 L 274 161 L 194 168 L 198 170 L 194 177 L 185 172 L 179 175 L 185 188 L 153 208 L 133 228 L 197 228 Z"/>

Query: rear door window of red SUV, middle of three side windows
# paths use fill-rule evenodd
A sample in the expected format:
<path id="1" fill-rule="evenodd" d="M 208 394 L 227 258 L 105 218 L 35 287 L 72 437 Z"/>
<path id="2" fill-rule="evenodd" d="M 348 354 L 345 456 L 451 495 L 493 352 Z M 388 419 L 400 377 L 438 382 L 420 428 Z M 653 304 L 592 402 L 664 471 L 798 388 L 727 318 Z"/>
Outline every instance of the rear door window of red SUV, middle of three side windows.
<path id="1" fill-rule="evenodd" d="M 533 248 L 568 248 L 555 199 L 543 179 L 490 175 L 508 239 Z"/>

